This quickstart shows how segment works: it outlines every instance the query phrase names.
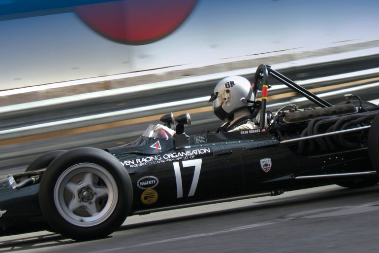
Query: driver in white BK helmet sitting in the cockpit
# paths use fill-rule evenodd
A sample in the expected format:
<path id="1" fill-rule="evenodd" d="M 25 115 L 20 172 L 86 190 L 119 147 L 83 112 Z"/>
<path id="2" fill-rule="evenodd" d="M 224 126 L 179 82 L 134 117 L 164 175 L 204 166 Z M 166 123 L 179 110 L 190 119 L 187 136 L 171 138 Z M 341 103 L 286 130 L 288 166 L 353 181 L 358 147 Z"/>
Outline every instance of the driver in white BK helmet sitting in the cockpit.
<path id="1" fill-rule="evenodd" d="M 228 76 L 216 84 L 209 102 L 213 102 L 213 113 L 226 121 L 216 133 L 243 131 L 259 128 L 256 116 L 260 102 L 254 102 L 253 87 L 242 76 Z"/>

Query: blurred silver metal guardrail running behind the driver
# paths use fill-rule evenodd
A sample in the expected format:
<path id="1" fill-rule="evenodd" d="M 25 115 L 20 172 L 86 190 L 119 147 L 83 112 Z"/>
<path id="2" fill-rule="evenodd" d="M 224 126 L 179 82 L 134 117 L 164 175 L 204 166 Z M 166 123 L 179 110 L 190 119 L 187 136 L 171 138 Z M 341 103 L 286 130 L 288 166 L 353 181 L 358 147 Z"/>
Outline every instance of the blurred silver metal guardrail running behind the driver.
<path id="1" fill-rule="evenodd" d="M 329 61 L 326 62 L 325 58 L 321 57 L 311 63 L 307 60 L 298 61 L 297 64 L 278 64 L 278 68 L 276 65 L 273 68 L 284 74 L 291 74 L 291 78 L 295 77 L 297 80 L 302 76 L 303 80 L 299 80 L 298 83 L 307 88 L 379 76 L 379 68 L 372 68 L 375 62 L 379 61 L 379 54 L 327 59 Z M 373 62 L 373 59 L 376 61 Z M 296 68 L 291 67 L 293 65 Z M 255 70 L 256 68 L 249 68 L 187 77 L 2 107 L 0 140 L 157 115 L 172 110 L 205 107 L 208 106 L 208 95 L 212 93 L 218 80 L 228 75 L 243 75 L 252 79 Z M 314 79 L 308 79 L 309 77 Z M 365 89 L 378 86 L 365 85 L 359 87 L 355 85 L 350 88 Z M 348 88 L 338 89 L 334 93 L 344 94 L 347 90 Z M 287 92 L 286 88 L 277 85 L 269 90 L 269 95 L 279 95 L 284 92 Z M 322 94 L 322 96 L 328 95 Z M 297 99 L 297 103 L 303 102 L 301 98 L 294 99 Z M 123 105 L 117 106 L 120 104 Z M 277 101 L 269 107 L 274 108 L 284 104 L 288 104 L 288 99 L 283 102 Z"/>

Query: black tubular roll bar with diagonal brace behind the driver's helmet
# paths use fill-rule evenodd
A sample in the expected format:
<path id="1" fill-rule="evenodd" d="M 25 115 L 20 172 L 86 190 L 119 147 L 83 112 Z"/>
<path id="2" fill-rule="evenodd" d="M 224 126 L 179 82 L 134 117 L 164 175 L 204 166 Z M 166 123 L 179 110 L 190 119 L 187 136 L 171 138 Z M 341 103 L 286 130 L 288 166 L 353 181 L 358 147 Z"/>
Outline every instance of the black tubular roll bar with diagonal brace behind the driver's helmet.
<path id="1" fill-rule="evenodd" d="M 325 100 L 317 97 L 315 94 L 312 92 L 308 91 L 307 89 L 301 87 L 288 77 L 284 76 L 283 74 L 277 72 L 276 70 L 271 69 L 271 66 L 261 64 L 258 66 L 256 69 L 256 72 L 254 74 L 254 79 L 253 79 L 253 94 L 254 98 L 256 97 L 256 94 L 258 92 L 258 89 L 262 89 L 262 85 L 268 85 L 268 77 L 271 75 L 281 83 L 285 84 L 288 88 L 292 89 L 293 91 L 299 93 L 303 97 L 307 98 L 311 102 L 315 103 L 317 106 L 325 108 L 325 107 L 331 107 L 333 105 L 329 104 Z M 262 85 L 259 83 L 259 80 L 263 80 Z M 266 127 L 266 100 L 262 99 L 262 105 L 261 105 L 261 112 L 260 112 L 260 128 L 265 128 Z"/>

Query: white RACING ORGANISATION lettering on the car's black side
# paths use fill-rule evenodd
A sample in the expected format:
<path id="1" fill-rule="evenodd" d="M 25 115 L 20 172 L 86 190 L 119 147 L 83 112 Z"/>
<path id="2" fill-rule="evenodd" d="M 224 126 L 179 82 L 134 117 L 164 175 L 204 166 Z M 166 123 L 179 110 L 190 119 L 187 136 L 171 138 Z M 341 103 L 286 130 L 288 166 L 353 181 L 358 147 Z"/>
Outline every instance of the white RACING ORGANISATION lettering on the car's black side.
<path id="1" fill-rule="evenodd" d="M 193 159 L 196 157 L 202 157 L 204 155 L 211 154 L 211 153 L 212 153 L 211 148 L 207 147 L 207 148 L 199 148 L 199 149 L 193 149 L 193 150 L 186 150 L 186 151 L 180 151 L 180 152 L 135 158 L 128 161 L 123 161 L 121 162 L 121 164 L 124 165 L 125 167 L 135 168 L 135 167 L 153 165 L 153 164 L 159 164 L 159 163 L 165 163 L 165 162 L 188 160 L 188 159 Z"/>

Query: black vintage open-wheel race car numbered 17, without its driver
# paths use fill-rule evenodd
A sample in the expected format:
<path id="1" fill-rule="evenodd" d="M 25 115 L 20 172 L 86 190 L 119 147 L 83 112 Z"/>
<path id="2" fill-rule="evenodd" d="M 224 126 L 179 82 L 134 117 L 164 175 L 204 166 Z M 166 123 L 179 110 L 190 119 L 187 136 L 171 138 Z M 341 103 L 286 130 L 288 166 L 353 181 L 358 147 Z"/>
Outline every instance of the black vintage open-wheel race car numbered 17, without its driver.
<path id="1" fill-rule="evenodd" d="M 315 106 L 268 111 L 269 77 Z M 255 129 L 189 136 L 189 114 L 168 113 L 132 143 L 42 155 L 0 181 L 1 234 L 47 229 L 96 239 L 132 215 L 379 181 L 377 105 L 351 94 L 331 105 L 267 65 L 255 72 L 253 94 L 261 94 L 251 108 Z"/>

